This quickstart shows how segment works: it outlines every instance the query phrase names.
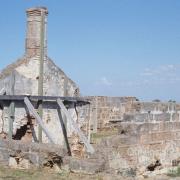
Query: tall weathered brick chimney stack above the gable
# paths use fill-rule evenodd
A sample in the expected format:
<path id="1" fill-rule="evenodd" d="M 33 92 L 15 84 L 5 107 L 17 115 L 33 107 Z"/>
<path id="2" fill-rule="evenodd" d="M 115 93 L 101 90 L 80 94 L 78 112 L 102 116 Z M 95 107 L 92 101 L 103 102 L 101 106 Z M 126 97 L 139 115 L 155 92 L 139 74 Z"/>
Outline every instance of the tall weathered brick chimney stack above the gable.
<path id="1" fill-rule="evenodd" d="M 26 56 L 40 56 L 44 39 L 44 55 L 47 55 L 46 26 L 48 10 L 45 7 L 29 8 L 27 13 Z"/>

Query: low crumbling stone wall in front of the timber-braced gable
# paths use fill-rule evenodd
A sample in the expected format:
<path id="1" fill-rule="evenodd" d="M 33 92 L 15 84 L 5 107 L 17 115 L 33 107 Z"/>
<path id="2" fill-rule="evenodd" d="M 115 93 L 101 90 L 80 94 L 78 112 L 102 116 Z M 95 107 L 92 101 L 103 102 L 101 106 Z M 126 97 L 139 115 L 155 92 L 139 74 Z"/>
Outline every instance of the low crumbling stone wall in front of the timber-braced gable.
<path id="1" fill-rule="evenodd" d="M 105 170 L 100 159 L 80 159 L 68 156 L 67 151 L 55 144 L 23 143 L 0 139 L 0 164 L 12 168 L 54 168 L 75 173 L 95 174 Z"/>

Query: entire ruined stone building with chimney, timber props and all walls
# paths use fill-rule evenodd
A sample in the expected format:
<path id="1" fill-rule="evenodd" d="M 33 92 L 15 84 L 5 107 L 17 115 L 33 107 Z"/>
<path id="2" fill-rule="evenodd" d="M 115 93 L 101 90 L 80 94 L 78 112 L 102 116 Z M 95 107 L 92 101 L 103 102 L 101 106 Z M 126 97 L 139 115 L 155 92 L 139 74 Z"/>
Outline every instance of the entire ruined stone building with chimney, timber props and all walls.
<path id="1" fill-rule="evenodd" d="M 27 10 L 25 54 L 0 73 L 0 163 L 137 176 L 180 163 L 180 104 L 81 97 L 47 54 L 44 7 Z"/>

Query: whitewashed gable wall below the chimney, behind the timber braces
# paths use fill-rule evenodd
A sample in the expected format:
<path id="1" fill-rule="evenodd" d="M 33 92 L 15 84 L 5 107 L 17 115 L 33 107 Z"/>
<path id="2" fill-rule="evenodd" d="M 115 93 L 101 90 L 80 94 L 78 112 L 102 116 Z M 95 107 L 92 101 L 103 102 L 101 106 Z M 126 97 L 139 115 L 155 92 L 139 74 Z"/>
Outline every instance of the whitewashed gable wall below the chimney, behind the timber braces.
<path id="1" fill-rule="evenodd" d="M 23 59 L 22 59 L 23 60 Z M 6 76 L 1 75 L 0 88 L 5 88 L 6 94 L 12 95 L 10 91 L 14 86 L 15 95 L 38 95 L 38 79 L 39 79 L 39 58 L 34 57 L 23 63 L 18 64 L 13 69 L 6 69 L 3 73 Z M 12 84 L 12 78 L 14 78 L 14 84 Z M 79 96 L 77 91 L 77 85 L 69 79 L 65 73 L 59 69 L 49 58 L 44 61 L 44 84 L 43 91 L 46 96 Z M 57 108 L 57 107 L 56 107 Z M 8 107 L 4 107 L 3 119 L 0 117 L 2 128 L 5 133 L 8 133 Z M 75 111 L 71 111 L 72 117 L 76 120 Z M 63 133 L 59 122 L 59 116 L 57 109 L 51 107 L 43 109 L 43 122 L 46 127 L 50 129 L 51 135 L 57 144 L 63 144 Z M 16 105 L 15 107 L 15 120 L 13 132 L 14 134 L 22 126 L 27 124 L 27 112 L 24 107 Z M 38 126 L 34 123 L 34 129 L 37 134 Z M 68 128 L 69 129 L 69 128 Z M 71 128 L 72 130 L 72 128 Z M 72 132 L 69 132 L 72 133 Z M 48 142 L 47 137 L 43 134 L 43 142 Z"/>

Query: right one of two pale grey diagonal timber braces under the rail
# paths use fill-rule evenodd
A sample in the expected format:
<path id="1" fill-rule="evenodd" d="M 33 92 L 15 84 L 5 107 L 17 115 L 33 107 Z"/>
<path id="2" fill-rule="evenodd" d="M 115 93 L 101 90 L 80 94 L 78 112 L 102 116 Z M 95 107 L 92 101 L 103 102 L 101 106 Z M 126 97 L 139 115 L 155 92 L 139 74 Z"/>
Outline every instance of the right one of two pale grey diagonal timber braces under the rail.
<path id="1" fill-rule="evenodd" d="M 66 115 L 67 120 L 71 123 L 72 127 L 74 128 L 74 130 L 76 131 L 76 133 L 79 135 L 80 140 L 84 143 L 87 151 L 89 153 L 94 153 L 94 148 L 91 144 L 89 144 L 87 138 L 84 136 L 84 134 L 82 133 L 82 131 L 80 130 L 80 128 L 78 127 L 78 125 L 74 122 L 74 120 L 72 119 L 72 117 L 70 116 L 68 110 L 66 109 L 66 107 L 64 106 L 63 102 L 61 101 L 61 99 L 57 99 L 57 103 L 59 105 L 59 108 L 62 110 L 62 112 Z"/>

